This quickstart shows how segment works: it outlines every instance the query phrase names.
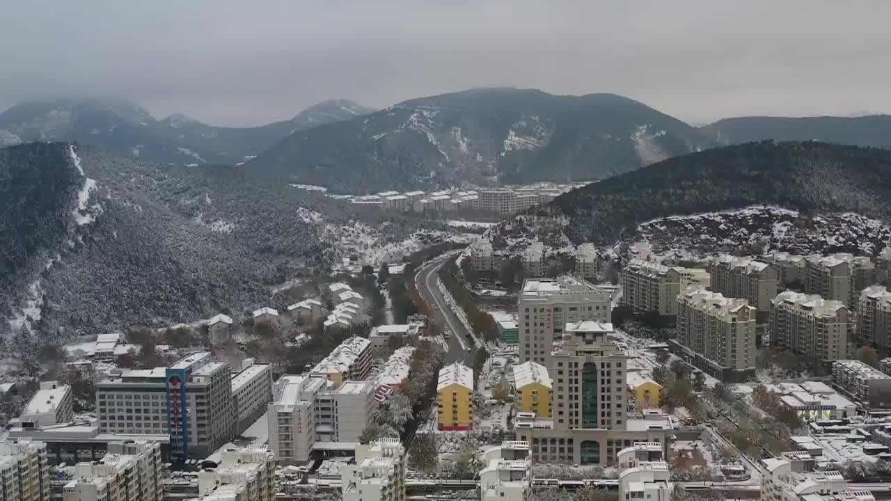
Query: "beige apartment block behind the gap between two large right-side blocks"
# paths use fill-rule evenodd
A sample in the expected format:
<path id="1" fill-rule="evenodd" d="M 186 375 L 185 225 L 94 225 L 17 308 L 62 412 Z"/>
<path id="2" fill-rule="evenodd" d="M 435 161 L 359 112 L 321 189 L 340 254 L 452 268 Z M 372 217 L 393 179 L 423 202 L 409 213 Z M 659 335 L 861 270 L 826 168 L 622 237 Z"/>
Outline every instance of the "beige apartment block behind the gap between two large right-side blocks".
<path id="1" fill-rule="evenodd" d="M 709 268 L 712 288 L 727 298 L 748 300 L 758 312 L 758 321 L 770 317 L 771 300 L 777 295 L 777 268 L 761 261 L 723 255 Z"/>

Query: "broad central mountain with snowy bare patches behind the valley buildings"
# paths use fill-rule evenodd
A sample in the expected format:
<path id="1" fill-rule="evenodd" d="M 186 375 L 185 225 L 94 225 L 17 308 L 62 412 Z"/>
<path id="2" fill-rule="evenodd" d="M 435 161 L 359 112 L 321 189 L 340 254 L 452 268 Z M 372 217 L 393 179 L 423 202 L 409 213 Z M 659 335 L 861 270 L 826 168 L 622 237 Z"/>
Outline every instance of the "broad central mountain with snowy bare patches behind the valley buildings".
<path id="1" fill-rule="evenodd" d="M 245 168 L 348 193 L 600 179 L 715 146 L 615 94 L 482 88 L 292 134 Z"/>

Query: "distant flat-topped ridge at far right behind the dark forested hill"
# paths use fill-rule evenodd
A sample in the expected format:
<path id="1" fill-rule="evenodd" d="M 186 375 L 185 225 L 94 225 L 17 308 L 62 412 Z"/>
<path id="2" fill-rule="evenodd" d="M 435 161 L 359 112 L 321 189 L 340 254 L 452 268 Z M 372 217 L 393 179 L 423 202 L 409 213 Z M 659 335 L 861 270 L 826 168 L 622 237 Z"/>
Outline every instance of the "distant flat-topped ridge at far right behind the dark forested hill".
<path id="1" fill-rule="evenodd" d="M 822 141 L 891 148 L 891 115 L 853 117 L 739 117 L 718 120 L 699 130 L 720 144 L 753 141 Z"/>

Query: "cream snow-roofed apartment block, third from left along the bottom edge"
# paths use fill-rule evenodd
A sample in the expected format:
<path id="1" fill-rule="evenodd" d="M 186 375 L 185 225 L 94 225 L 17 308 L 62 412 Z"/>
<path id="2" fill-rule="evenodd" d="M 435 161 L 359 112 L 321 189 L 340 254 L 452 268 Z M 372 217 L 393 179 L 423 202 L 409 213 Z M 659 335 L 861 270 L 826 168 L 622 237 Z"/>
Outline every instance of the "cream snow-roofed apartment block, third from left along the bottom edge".
<path id="1" fill-rule="evenodd" d="M 275 462 L 266 446 L 230 448 L 219 464 L 198 473 L 196 501 L 274 501 Z"/>

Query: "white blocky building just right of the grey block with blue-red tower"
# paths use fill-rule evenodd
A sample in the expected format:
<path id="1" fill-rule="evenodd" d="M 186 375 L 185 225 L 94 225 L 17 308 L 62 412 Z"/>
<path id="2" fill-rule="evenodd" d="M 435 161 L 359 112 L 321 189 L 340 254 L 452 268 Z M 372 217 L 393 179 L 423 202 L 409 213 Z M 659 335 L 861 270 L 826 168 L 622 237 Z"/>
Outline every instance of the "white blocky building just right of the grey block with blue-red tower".
<path id="1" fill-rule="evenodd" d="M 323 375 L 283 375 L 267 413 L 275 461 L 302 464 L 314 450 L 355 450 L 371 423 L 375 390 L 370 381 L 336 384 Z"/>

